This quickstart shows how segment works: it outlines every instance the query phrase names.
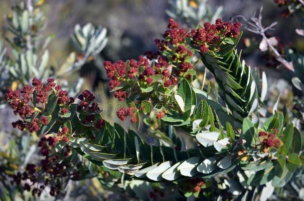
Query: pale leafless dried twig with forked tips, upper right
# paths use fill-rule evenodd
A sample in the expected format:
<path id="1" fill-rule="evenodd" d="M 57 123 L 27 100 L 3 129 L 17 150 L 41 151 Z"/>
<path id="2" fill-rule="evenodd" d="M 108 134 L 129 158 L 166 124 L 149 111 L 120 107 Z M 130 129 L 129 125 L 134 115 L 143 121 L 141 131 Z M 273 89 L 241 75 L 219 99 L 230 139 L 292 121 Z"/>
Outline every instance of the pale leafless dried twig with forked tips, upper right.
<path id="1" fill-rule="evenodd" d="M 303 0 L 302 0 L 303 1 Z M 267 36 L 265 35 L 265 32 L 268 30 L 273 30 L 273 27 L 276 26 L 278 23 L 273 22 L 271 25 L 268 27 L 264 27 L 262 25 L 262 11 L 263 11 L 263 6 L 260 9 L 259 16 L 256 16 L 256 13 L 252 15 L 250 18 L 251 21 L 247 20 L 243 15 L 237 15 L 233 18 L 241 18 L 243 19 L 246 24 L 244 25 L 245 29 L 247 29 L 250 32 L 253 32 L 255 34 L 258 34 L 263 37 L 263 39 L 267 42 L 267 45 L 270 47 L 270 49 L 274 52 L 276 60 L 280 62 L 284 67 L 287 69 L 294 71 L 293 63 L 288 62 L 287 60 L 284 59 L 284 57 L 278 52 L 278 50 L 269 42 Z"/>

